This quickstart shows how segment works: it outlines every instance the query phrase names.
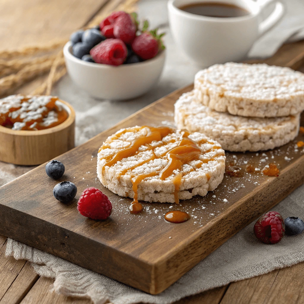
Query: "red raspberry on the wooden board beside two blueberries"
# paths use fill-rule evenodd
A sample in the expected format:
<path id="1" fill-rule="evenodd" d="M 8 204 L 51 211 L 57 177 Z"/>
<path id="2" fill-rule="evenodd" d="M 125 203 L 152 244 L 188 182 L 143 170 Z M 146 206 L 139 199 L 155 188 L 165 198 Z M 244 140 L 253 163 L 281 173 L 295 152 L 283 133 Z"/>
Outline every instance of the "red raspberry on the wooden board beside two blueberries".
<path id="1" fill-rule="evenodd" d="M 107 219 L 111 215 L 112 204 L 100 190 L 90 187 L 82 192 L 77 209 L 90 219 Z"/>

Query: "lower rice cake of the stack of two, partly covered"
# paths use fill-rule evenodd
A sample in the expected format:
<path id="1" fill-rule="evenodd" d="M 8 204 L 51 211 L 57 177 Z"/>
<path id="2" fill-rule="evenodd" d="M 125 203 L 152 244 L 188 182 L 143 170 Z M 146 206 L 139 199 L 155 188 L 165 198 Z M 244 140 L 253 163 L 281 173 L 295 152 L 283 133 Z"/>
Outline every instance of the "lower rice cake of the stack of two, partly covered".
<path id="1" fill-rule="evenodd" d="M 274 149 L 293 140 L 299 132 L 300 114 L 258 118 L 216 112 L 202 105 L 197 90 L 184 93 L 175 103 L 174 120 L 180 129 L 201 132 L 234 152 Z"/>

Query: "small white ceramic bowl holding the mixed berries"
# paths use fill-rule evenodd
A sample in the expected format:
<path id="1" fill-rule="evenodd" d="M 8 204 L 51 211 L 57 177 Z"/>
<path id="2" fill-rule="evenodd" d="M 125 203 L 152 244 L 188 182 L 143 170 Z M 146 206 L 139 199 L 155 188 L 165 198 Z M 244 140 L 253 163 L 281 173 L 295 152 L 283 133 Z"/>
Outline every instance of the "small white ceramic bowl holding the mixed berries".
<path id="1" fill-rule="evenodd" d="M 71 42 L 63 49 L 67 71 L 73 81 L 96 98 L 130 99 L 148 92 L 164 67 L 165 51 L 152 59 L 114 67 L 80 60 L 72 55 Z"/>

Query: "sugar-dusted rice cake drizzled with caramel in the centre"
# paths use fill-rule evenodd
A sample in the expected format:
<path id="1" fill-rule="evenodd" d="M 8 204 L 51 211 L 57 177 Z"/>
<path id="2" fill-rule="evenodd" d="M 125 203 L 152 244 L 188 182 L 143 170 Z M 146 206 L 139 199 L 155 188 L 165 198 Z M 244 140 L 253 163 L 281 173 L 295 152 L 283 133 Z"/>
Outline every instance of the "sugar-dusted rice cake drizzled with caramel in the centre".
<path id="1" fill-rule="evenodd" d="M 135 126 L 102 144 L 97 174 L 120 196 L 178 203 L 214 190 L 223 180 L 225 159 L 220 144 L 204 134 Z"/>

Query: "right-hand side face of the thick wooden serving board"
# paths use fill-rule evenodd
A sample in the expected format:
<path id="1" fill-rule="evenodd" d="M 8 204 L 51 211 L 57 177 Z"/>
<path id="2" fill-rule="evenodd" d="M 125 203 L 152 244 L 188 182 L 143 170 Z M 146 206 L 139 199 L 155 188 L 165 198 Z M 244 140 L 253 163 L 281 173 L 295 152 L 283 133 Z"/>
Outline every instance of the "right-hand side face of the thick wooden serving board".
<path id="1" fill-rule="evenodd" d="M 154 267 L 157 284 L 153 294 L 164 291 L 239 230 L 281 202 L 303 182 L 304 155 L 283 169 L 279 177 L 269 178 L 269 181 L 212 219 L 184 242 L 183 250 L 179 246 L 161 256 Z"/>

